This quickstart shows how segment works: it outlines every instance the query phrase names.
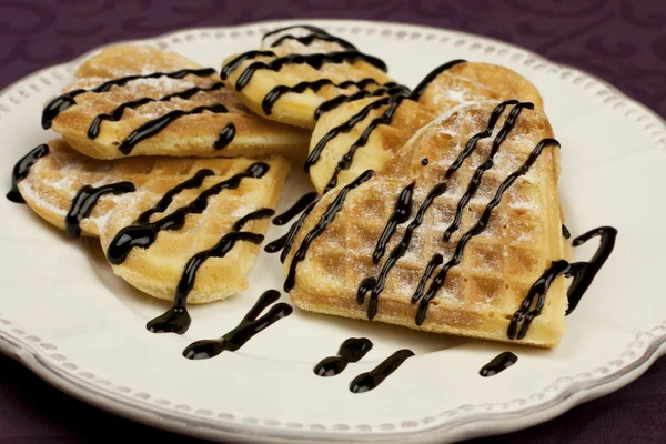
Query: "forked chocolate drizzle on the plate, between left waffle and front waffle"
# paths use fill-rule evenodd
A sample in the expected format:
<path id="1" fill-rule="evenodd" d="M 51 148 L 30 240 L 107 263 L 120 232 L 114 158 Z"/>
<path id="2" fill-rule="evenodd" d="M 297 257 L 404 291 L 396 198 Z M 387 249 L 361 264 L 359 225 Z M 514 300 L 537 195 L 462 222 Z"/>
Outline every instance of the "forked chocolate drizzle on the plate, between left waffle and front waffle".
<path id="1" fill-rule="evenodd" d="M 273 305 L 266 314 L 259 317 L 262 311 L 279 299 L 280 292 L 275 290 L 266 291 L 259 297 L 254 306 L 250 309 L 235 329 L 216 340 L 193 342 L 183 351 L 183 356 L 189 360 L 208 360 L 224 351 L 235 352 L 254 337 L 255 334 L 292 313 L 293 309 L 291 305 L 281 302 Z"/>

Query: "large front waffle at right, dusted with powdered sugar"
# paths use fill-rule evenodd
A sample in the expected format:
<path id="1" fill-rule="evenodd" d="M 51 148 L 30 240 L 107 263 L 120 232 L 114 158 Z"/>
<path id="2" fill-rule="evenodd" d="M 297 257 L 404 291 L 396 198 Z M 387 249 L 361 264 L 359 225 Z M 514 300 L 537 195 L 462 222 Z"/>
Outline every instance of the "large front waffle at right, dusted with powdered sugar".
<path id="1" fill-rule="evenodd" d="M 483 134 L 493 114 L 498 120 L 492 131 Z M 513 128 L 509 115 L 515 119 Z M 488 165 L 494 141 L 501 141 L 503 129 L 508 132 L 497 144 L 492 168 L 482 173 L 477 191 L 471 194 L 467 205 L 461 206 L 460 228 L 445 241 L 444 233 L 462 196 L 480 167 L 484 162 Z M 471 144 L 470 140 L 480 133 L 477 143 Z M 427 124 L 382 172 L 371 179 L 366 172 L 332 190 L 312 210 L 286 254 L 285 290 L 291 290 L 293 303 L 313 312 L 356 319 L 374 315 L 376 321 L 424 331 L 508 341 L 509 321 L 531 286 L 552 262 L 568 255 L 557 194 L 559 150 L 556 141 L 548 139 L 552 137 L 541 111 L 531 110 L 528 104 L 498 105 L 496 101 L 458 105 Z M 539 145 L 543 151 L 535 157 L 533 152 Z M 452 164 L 466 147 L 473 147 L 471 155 L 455 170 Z M 501 184 L 519 172 L 531 157 L 535 163 L 525 175 L 516 175 L 493 209 L 491 202 Z M 428 160 L 427 164 L 423 159 Z M 446 179 L 450 170 L 453 172 Z M 403 206 L 411 211 L 406 218 L 395 216 L 396 201 L 406 196 L 412 183 L 411 205 Z M 424 203 L 428 194 L 431 206 Z M 474 232 L 487 209 L 486 229 Z M 422 224 L 417 222 L 420 212 Z M 392 215 L 400 222 L 397 229 L 385 252 L 376 253 Z M 332 222 L 322 224 L 323 219 Z M 407 229 L 410 225 L 412 229 Z M 407 231 L 411 240 L 405 236 Z M 463 254 L 457 256 L 462 261 L 453 262 L 455 266 L 448 269 L 443 287 L 436 290 L 432 286 L 434 276 L 444 264 L 452 263 L 466 233 L 475 234 L 463 241 Z M 405 241 L 404 255 L 396 248 L 401 241 Z M 377 285 L 372 279 L 381 281 L 390 258 L 397 261 L 385 273 L 383 291 L 373 294 Z M 423 291 L 417 292 L 431 261 L 434 270 L 430 276 L 426 274 Z M 367 292 L 360 292 L 360 286 Z M 434 297 L 427 303 L 433 289 Z M 415 292 L 420 296 L 412 303 Z M 541 315 L 534 319 L 527 335 L 515 342 L 555 346 L 564 332 L 566 303 L 564 278 L 556 278 Z M 424 317 L 420 320 L 420 315 Z"/>

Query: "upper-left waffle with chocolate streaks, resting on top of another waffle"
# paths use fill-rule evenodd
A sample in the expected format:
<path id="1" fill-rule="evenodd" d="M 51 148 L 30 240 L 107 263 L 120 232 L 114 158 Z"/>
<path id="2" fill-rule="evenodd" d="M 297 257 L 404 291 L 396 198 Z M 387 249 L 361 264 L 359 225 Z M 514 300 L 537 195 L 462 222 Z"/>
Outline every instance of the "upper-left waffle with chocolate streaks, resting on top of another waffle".
<path id="1" fill-rule="evenodd" d="M 202 69 L 174 53 L 110 47 L 84 62 L 77 75 L 79 80 L 63 95 L 47 103 L 42 125 L 52 124 L 72 148 L 92 158 L 280 154 L 297 159 L 306 151 L 309 133 L 258 118 L 214 69 Z M 132 75 L 139 78 L 119 81 Z M 88 91 L 95 88 L 99 92 Z"/>

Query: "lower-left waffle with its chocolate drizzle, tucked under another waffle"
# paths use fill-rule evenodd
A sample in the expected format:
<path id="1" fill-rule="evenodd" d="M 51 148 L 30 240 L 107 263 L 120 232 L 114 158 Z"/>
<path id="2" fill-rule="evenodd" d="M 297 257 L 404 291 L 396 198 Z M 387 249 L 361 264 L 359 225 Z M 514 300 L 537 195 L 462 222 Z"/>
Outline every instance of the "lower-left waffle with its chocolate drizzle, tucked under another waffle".
<path id="1" fill-rule="evenodd" d="M 14 178 L 37 214 L 72 238 L 99 236 L 115 274 L 183 303 L 248 286 L 290 165 L 273 155 L 100 161 L 61 139 L 24 159 Z"/>

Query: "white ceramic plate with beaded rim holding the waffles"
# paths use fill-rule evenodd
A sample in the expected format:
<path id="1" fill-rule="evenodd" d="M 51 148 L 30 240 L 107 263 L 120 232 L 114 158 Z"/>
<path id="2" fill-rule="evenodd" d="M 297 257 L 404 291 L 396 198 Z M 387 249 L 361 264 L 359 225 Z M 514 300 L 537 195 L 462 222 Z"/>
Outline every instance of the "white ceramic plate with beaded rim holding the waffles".
<path id="1" fill-rule="evenodd" d="M 666 127 L 612 87 L 513 46 L 432 28 L 313 21 L 383 58 L 406 84 L 454 58 L 509 67 L 542 91 L 562 142 L 561 192 L 574 233 L 610 224 L 615 251 L 554 351 L 425 334 L 295 311 L 236 353 L 189 361 L 193 340 L 240 321 L 260 293 L 281 289 L 275 255 L 260 254 L 242 294 L 193 307 L 183 336 L 144 325 L 167 305 L 115 278 L 98 242 L 71 242 L 26 206 L 1 199 L 0 349 L 57 387 L 158 427 L 213 440 L 444 442 L 526 427 L 636 379 L 666 346 L 660 274 L 666 251 L 663 191 Z M 255 48 L 269 29 L 291 22 L 181 31 L 143 41 L 219 67 Z M 85 54 L 84 57 L 88 57 Z M 69 83 L 79 61 L 36 72 L 0 95 L 0 167 L 53 137 L 40 129 L 44 101 Z M 295 169 L 280 203 L 307 188 Z M 284 230 L 272 226 L 268 239 Z M 589 242 L 594 244 L 595 242 Z M 594 245 L 576 249 L 587 259 Z M 286 296 L 283 296 L 285 299 Z M 336 377 L 313 374 L 350 336 L 375 346 Z M 350 381 L 397 349 L 408 360 L 376 390 L 353 394 Z M 480 367 L 513 350 L 519 361 L 494 376 Z"/>

